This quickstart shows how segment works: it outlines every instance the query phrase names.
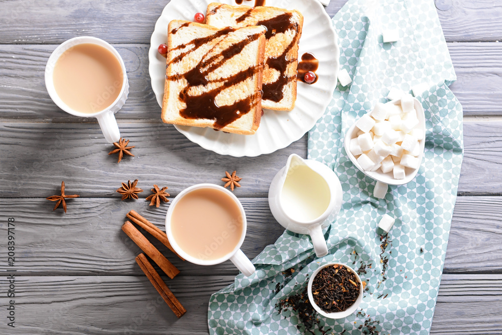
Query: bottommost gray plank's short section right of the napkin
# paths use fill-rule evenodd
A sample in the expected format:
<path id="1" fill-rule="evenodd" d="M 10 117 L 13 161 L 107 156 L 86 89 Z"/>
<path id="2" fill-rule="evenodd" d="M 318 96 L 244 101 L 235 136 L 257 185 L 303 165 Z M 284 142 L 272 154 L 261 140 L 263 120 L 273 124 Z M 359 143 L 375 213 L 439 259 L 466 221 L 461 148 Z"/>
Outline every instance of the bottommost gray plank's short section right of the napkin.
<path id="1" fill-rule="evenodd" d="M 502 276 L 443 275 L 431 334 L 502 333 Z"/>

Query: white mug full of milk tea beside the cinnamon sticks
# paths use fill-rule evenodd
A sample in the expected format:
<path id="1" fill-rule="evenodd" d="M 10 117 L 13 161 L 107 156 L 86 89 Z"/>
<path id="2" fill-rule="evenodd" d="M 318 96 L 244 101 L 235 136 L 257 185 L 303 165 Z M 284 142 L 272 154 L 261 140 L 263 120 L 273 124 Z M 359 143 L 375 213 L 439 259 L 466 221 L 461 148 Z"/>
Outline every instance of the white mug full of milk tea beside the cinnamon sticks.
<path id="1" fill-rule="evenodd" d="M 199 265 L 230 260 L 250 276 L 255 266 L 240 250 L 246 228 L 240 201 L 226 188 L 214 184 L 184 189 L 171 202 L 166 215 L 167 238 L 181 257 Z"/>

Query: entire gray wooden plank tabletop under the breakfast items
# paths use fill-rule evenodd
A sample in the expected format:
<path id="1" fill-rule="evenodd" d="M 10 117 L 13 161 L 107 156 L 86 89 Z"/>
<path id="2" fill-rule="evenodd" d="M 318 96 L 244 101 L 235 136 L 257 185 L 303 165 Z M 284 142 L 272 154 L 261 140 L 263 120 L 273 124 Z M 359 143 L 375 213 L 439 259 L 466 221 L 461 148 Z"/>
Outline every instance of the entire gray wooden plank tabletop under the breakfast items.
<path id="1" fill-rule="evenodd" d="M 331 0 L 333 16 L 346 0 Z M 437 0 L 464 109 L 465 154 L 431 333 L 502 333 L 502 5 L 498 0 Z M 253 258 L 283 229 L 267 192 L 307 137 L 273 154 L 220 156 L 162 124 L 150 86 L 150 35 L 167 0 L 0 1 L 0 271 L 15 269 L 15 328 L 7 326 L 7 278 L 0 279 L 1 334 L 206 334 L 211 293 L 233 282 L 229 262 L 201 267 L 159 249 L 181 270 L 164 277 L 188 312 L 176 319 L 135 263 L 139 248 L 120 230 L 135 209 L 164 230 L 167 204 L 148 206 L 153 184 L 174 197 L 201 182 L 221 184 L 237 170 L 235 194 L 248 215 L 242 249 Z M 136 157 L 120 164 L 95 119 L 63 113 L 51 101 L 44 68 L 56 46 L 75 36 L 115 46 L 126 63 L 129 99 L 116 115 Z M 120 201 L 120 182 L 139 179 L 139 201 Z M 45 197 L 61 180 L 68 213 Z M 16 222 L 15 266 L 7 265 L 7 219 Z M 153 240 L 153 239 L 151 239 Z"/>

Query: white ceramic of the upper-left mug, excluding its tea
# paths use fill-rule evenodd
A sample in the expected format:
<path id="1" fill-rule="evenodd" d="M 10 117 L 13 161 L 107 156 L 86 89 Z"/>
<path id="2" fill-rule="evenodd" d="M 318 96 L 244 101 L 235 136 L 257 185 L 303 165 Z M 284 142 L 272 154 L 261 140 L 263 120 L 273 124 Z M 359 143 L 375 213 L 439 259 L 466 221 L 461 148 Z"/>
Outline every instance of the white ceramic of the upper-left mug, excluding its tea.
<path id="1" fill-rule="evenodd" d="M 61 57 L 61 55 L 69 48 L 83 43 L 97 44 L 109 50 L 119 61 L 123 73 L 122 87 L 120 88 L 120 93 L 118 94 L 115 101 L 113 101 L 112 104 L 110 104 L 103 110 L 97 111 L 96 113 L 92 114 L 82 113 L 68 106 L 56 92 L 53 80 L 54 66 L 56 65 L 59 57 Z M 118 110 L 120 110 L 120 108 L 122 108 L 123 104 L 127 100 L 129 94 L 129 82 L 126 73 L 126 66 L 124 65 L 122 57 L 120 57 L 120 54 L 109 43 L 96 37 L 90 36 L 74 37 L 66 42 L 63 42 L 56 48 L 56 50 L 52 52 L 49 60 L 47 61 L 47 65 L 45 67 L 45 86 L 47 87 L 47 91 L 49 92 L 51 99 L 61 109 L 66 111 L 66 113 L 82 118 L 96 118 L 106 141 L 108 141 L 109 143 L 118 142 L 118 140 L 120 139 L 120 131 L 118 130 L 118 125 L 117 121 L 115 120 L 114 114 Z"/>

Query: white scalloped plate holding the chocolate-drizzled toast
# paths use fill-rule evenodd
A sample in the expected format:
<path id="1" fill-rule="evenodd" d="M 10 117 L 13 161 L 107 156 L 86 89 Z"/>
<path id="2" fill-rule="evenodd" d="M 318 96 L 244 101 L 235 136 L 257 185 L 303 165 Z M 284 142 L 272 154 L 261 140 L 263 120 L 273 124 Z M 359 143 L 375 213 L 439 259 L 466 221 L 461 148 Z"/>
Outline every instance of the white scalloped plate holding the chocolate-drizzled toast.
<path id="1" fill-rule="evenodd" d="M 166 58 L 157 48 L 167 41 L 167 27 L 171 20 L 193 21 L 195 13 L 206 13 L 210 0 L 171 0 L 155 24 L 150 40 L 149 67 L 152 88 L 157 102 L 162 106 Z M 233 0 L 222 3 L 235 5 Z M 252 5 L 252 2 L 245 2 Z M 303 14 L 303 32 L 298 58 L 311 52 L 319 60 L 314 84 L 298 81 L 296 105 L 292 111 L 265 109 L 260 128 L 255 135 L 237 135 L 215 132 L 212 128 L 175 126 L 190 141 L 221 155 L 254 157 L 269 154 L 289 146 L 308 132 L 324 114 L 336 87 L 338 74 L 338 49 L 331 20 L 318 0 L 267 0 L 267 6 L 296 9 Z"/>

